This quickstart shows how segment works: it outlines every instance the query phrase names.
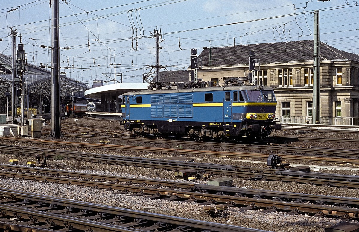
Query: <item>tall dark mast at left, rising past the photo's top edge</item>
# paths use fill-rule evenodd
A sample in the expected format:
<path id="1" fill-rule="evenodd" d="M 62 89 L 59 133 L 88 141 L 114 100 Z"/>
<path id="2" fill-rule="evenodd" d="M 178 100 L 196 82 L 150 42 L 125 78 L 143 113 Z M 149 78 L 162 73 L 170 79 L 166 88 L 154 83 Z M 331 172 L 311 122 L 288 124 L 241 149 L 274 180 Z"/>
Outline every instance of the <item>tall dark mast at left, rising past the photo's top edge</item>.
<path id="1" fill-rule="evenodd" d="M 51 135 L 62 137 L 60 115 L 59 0 L 52 0 Z"/>

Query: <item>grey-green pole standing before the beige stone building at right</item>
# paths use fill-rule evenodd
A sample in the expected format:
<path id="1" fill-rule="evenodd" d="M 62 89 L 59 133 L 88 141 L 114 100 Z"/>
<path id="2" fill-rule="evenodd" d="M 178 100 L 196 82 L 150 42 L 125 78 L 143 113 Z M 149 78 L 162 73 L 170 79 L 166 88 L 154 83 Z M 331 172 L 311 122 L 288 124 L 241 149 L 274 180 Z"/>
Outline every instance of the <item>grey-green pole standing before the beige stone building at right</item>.
<path id="1" fill-rule="evenodd" d="M 320 56 L 319 56 L 319 10 L 314 11 L 314 63 L 313 63 L 313 117 L 312 123 L 320 121 Z"/>

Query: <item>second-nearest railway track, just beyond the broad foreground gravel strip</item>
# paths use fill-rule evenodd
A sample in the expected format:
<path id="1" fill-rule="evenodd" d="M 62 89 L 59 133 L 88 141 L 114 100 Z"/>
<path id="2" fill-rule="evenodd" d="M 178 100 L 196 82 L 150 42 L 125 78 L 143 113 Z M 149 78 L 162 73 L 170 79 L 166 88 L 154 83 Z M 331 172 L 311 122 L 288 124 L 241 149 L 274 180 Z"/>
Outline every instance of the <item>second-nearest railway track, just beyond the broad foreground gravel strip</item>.
<path id="1" fill-rule="evenodd" d="M 149 199 L 193 201 L 201 205 L 227 204 L 241 210 L 261 209 L 264 212 L 282 211 L 288 214 L 310 213 L 341 219 L 356 219 L 359 202 L 355 198 L 294 194 L 235 187 L 208 186 L 163 180 L 149 180 L 69 172 L 42 168 L 1 165 L 1 177 L 51 182 L 107 189 L 118 194 L 136 193 Z M 320 212 L 320 213 L 318 213 Z"/>

